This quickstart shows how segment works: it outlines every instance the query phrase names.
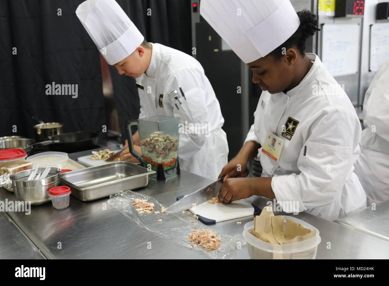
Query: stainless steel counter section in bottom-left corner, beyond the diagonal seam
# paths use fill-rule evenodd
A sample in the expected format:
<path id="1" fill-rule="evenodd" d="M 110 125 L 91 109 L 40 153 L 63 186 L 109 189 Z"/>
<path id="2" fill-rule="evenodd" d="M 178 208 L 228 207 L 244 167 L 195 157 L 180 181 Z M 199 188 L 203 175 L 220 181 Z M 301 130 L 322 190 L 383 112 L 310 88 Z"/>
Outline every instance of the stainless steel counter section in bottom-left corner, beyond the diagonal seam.
<path id="1" fill-rule="evenodd" d="M 0 227 L 0 259 L 45 259 L 5 212 L 0 212 Z"/>

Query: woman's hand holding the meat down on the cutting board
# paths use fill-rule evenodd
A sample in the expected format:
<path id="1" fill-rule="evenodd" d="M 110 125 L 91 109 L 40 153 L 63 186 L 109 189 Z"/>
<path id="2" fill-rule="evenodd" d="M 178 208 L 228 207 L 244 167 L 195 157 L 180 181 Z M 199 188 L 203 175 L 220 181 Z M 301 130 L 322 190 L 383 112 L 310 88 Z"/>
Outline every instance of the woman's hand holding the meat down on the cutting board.
<path id="1" fill-rule="evenodd" d="M 243 198 L 249 198 L 252 193 L 252 178 L 229 178 L 223 183 L 219 191 L 219 200 L 222 203 L 231 203 Z"/>

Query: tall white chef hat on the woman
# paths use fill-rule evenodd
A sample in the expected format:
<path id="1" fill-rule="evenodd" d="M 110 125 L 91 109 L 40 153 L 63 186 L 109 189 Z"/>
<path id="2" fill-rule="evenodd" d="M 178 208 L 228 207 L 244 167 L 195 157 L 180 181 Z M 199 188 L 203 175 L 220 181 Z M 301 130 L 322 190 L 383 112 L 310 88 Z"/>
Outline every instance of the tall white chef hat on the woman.
<path id="1" fill-rule="evenodd" d="M 245 63 L 266 56 L 300 25 L 289 0 L 202 0 L 200 14 Z"/>

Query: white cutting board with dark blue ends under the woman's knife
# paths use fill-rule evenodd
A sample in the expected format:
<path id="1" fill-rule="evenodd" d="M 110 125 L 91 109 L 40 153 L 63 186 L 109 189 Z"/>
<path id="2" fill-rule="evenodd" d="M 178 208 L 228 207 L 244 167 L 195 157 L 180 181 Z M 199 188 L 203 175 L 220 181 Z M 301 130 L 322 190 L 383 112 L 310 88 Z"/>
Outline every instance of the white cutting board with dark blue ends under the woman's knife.
<path id="1" fill-rule="evenodd" d="M 189 209 L 190 212 L 199 217 L 199 220 L 205 225 L 218 223 L 219 221 L 228 221 L 235 218 L 243 218 L 245 216 L 253 216 L 254 212 L 259 215 L 260 210 L 252 206 L 247 200 L 237 200 L 230 204 L 210 204 L 205 202 L 197 205 L 196 208 Z"/>

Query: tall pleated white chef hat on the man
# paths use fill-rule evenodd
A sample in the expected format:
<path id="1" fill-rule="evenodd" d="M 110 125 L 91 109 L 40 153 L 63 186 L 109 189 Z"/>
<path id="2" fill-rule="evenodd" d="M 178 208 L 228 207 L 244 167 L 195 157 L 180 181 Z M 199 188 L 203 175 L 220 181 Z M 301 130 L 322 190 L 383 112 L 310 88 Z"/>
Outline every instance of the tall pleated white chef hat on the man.
<path id="1" fill-rule="evenodd" d="M 110 65 L 132 54 L 144 40 L 115 0 L 86 0 L 75 14 Z"/>

